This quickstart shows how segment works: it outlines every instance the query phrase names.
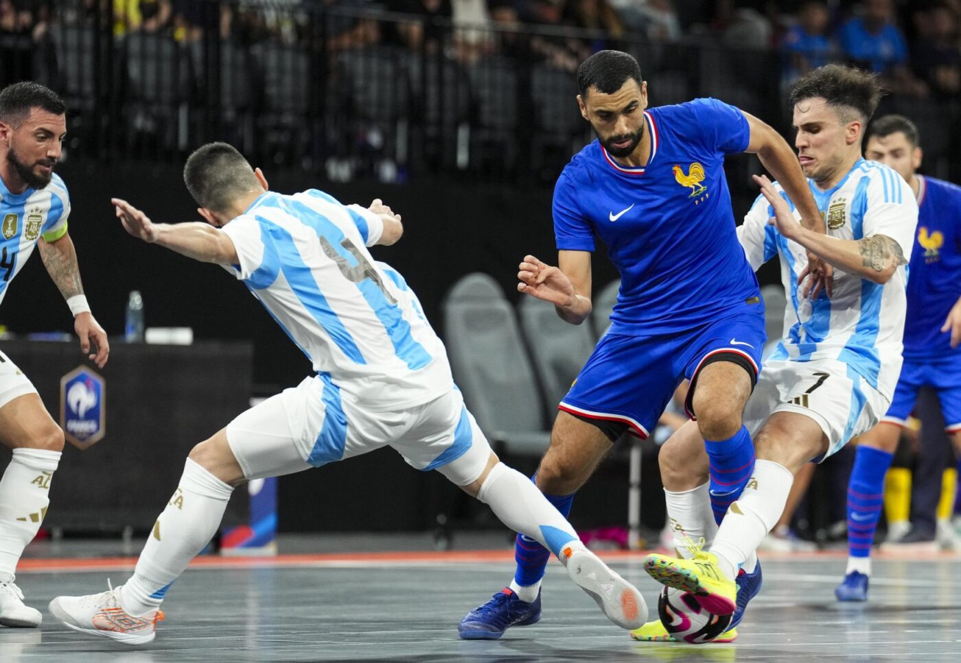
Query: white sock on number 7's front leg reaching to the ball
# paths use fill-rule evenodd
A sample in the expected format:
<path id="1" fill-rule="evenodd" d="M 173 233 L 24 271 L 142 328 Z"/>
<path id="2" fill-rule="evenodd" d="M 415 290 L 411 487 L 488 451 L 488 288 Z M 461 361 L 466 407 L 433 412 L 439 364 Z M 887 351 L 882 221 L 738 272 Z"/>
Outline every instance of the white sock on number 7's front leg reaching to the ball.
<path id="1" fill-rule="evenodd" d="M 727 578 L 734 580 L 784 512 L 794 475 L 781 464 L 758 460 L 741 497 L 727 509 L 710 551 Z"/>

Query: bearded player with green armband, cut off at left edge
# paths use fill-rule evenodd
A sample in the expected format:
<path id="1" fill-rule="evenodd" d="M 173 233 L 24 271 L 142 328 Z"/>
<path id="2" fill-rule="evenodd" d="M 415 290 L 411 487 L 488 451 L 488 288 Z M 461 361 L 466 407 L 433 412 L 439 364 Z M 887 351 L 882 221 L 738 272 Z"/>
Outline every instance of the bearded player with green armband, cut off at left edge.
<path id="1" fill-rule="evenodd" d="M 65 134 L 66 106 L 53 90 L 22 82 L 0 91 L 0 301 L 37 249 L 73 314 L 81 349 L 103 367 L 110 344 L 86 302 L 77 251 L 67 231 L 70 196 L 54 173 Z M 37 627 L 40 612 L 23 603 L 14 571 L 50 505 L 63 432 L 33 383 L 3 352 L 0 444 L 12 449 L 0 479 L 0 625 Z"/>

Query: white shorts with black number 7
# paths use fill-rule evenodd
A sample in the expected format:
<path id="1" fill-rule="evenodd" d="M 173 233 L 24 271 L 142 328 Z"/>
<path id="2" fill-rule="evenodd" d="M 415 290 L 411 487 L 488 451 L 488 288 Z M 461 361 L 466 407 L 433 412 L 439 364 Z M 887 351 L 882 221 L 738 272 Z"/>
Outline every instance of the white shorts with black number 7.
<path id="1" fill-rule="evenodd" d="M 744 409 L 752 438 L 776 412 L 814 419 L 827 437 L 823 461 L 851 438 L 871 430 L 890 401 L 844 362 L 767 360 Z"/>

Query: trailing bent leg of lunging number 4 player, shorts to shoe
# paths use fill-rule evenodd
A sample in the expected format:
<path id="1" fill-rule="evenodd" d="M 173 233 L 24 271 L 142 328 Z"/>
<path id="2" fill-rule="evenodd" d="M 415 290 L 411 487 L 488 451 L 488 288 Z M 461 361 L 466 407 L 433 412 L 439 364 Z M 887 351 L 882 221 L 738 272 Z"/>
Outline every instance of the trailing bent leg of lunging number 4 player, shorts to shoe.
<path id="1" fill-rule="evenodd" d="M 313 438 L 321 440 L 321 425 L 310 421 L 302 435 L 291 432 L 288 418 L 290 412 L 306 412 L 308 404 L 320 409 L 309 414 L 312 418 L 326 418 L 320 392 L 311 383 L 267 399 L 197 444 L 147 537 L 134 576 L 101 594 L 58 597 L 50 603 L 54 616 L 74 630 L 130 645 L 153 640 L 167 590 L 216 533 L 234 486 L 311 466 L 302 438 L 313 430 Z"/>

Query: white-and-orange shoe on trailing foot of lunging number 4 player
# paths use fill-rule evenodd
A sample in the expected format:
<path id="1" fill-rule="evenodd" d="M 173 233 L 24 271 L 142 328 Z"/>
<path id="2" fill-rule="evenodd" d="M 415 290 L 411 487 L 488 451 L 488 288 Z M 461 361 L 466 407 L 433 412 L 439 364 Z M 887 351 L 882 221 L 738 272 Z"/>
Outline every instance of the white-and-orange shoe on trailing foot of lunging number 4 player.
<path id="1" fill-rule="evenodd" d="M 132 615 L 120 606 L 120 587 L 89 596 L 59 596 L 50 602 L 50 612 L 63 625 L 81 633 L 103 635 L 125 645 L 146 645 L 157 634 L 161 610 Z"/>

